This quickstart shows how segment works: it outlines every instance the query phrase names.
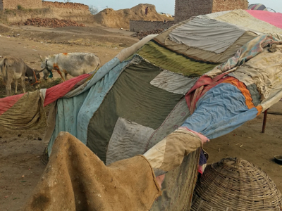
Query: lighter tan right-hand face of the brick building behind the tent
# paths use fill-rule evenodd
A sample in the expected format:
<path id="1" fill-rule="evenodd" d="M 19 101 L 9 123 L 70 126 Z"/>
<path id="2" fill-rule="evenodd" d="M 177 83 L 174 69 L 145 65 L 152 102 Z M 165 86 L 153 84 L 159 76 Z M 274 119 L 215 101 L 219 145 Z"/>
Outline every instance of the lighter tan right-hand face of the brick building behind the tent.
<path id="1" fill-rule="evenodd" d="M 235 9 L 246 10 L 248 4 L 247 0 L 214 0 L 212 12 L 233 11 Z"/>

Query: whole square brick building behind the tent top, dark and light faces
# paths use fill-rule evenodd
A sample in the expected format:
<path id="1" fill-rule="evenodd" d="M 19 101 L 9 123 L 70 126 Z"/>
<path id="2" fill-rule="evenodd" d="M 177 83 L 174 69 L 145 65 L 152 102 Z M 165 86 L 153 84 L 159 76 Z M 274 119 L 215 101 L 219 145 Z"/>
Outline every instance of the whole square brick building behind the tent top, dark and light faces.
<path id="1" fill-rule="evenodd" d="M 176 0 L 174 21 L 178 23 L 192 16 L 220 11 L 246 10 L 247 6 L 247 0 Z"/>

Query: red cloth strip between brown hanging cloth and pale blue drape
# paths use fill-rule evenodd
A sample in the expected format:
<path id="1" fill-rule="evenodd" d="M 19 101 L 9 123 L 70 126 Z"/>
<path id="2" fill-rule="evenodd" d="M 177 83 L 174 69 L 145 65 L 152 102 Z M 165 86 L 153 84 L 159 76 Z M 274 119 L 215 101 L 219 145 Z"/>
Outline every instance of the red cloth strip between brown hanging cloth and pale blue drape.
<path id="1" fill-rule="evenodd" d="M 57 99 L 65 96 L 69 91 L 71 91 L 71 89 L 73 89 L 75 84 L 77 84 L 82 79 L 85 79 L 89 76 L 90 74 L 83 74 L 78 77 L 73 77 L 72 79 L 69 79 L 66 82 L 63 82 L 61 84 L 58 84 L 54 87 L 47 89 L 45 100 L 44 100 L 44 106 L 47 106 L 50 103 L 56 101 Z"/>

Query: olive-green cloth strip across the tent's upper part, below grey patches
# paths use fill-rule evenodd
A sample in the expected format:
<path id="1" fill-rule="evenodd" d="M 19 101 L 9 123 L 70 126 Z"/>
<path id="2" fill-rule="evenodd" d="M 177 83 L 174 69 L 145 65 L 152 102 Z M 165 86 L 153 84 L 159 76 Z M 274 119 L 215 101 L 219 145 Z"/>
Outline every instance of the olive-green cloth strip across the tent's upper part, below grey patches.
<path id="1" fill-rule="evenodd" d="M 218 65 L 190 60 L 159 46 L 154 41 L 149 41 L 145 44 L 142 49 L 137 51 L 137 54 L 165 70 L 178 72 L 188 77 L 199 77 Z"/>

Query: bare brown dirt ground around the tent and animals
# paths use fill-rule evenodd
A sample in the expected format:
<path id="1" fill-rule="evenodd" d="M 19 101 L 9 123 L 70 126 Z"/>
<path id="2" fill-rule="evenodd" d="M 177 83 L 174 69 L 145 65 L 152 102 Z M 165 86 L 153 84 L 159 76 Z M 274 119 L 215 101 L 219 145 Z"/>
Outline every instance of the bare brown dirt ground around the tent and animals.
<path id="1" fill-rule="evenodd" d="M 91 25 L 48 29 L 39 27 L 5 27 L 0 25 L 0 56 L 18 56 L 27 65 L 40 69 L 38 53 L 47 56 L 61 52 L 92 52 L 102 64 L 114 58 L 126 46 L 138 39 L 130 32 Z M 19 35 L 18 35 L 19 34 Z M 59 75 L 54 74 L 55 77 Z M 42 83 L 42 87 L 56 84 Z M 28 87 L 32 90 L 32 87 Z M 21 92 L 20 85 L 18 92 Z M 0 86 L 0 98 L 5 89 Z M 282 101 L 269 112 L 281 112 Z M 48 113 L 48 108 L 46 110 Z M 209 163 L 221 158 L 238 157 L 255 163 L 282 190 L 282 165 L 274 162 L 274 155 L 282 154 L 282 115 L 268 115 L 266 132 L 262 134 L 263 114 L 246 122 L 233 132 L 211 140 L 205 148 Z M 0 127 L 0 210 L 23 210 L 39 181 L 45 165 L 40 160 L 44 151 L 42 139 L 45 129 L 11 130 Z"/>

